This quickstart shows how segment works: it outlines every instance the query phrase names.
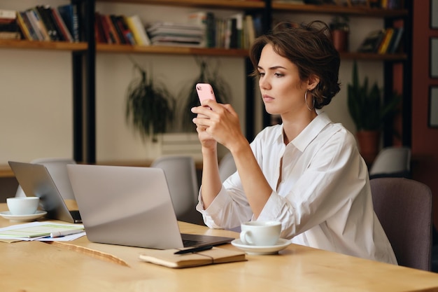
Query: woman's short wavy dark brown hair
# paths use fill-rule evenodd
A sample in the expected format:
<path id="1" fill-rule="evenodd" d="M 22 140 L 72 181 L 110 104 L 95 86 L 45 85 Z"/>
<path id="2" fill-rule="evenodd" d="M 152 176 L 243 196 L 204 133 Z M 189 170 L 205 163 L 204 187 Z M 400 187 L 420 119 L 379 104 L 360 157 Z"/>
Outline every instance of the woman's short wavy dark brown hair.
<path id="1" fill-rule="evenodd" d="M 250 48 L 250 60 L 258 76 L 257 66 L 264 46 L 271 44 L 274 51 L 298 67 L 299 78 L 307 80 L 311 75 L 320 79 L 312 90 L 315 108 L 330 104 L 340 90 L 339 52 L 334 48 L 329 27 L 321 21 L 309 24 L 279 22 L 268 34 L 255 39 Z"/>

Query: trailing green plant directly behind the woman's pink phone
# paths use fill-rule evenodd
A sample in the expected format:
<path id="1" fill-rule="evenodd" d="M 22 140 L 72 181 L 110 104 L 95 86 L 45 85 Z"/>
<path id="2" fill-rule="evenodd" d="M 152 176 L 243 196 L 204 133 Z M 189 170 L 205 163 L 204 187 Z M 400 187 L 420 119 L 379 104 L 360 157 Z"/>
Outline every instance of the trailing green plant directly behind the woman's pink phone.
<path id="1" fill-rule="evenodd" d="M 209 64 L 205 60 L 197 59 L 199 64 L 199 76 L 194 81 L 182 90 L 183 96 L 185 96 L 184 104 L 181 106 L 181 118 L 183 130 L 192 132 L 195 130 L 195 125 L 192 123 L 192 119 L 195 115 L 190 111 L 192 107 L 199 106 L 199 99 L 195 89 L 197 83 L 210 83 L 216 96 L 216 101 L 220 104 L 225 104 L 231 99 L 229 85 L 220 78 L 218 74 L 218 66 L 215 69 L 211 69 Z"/>

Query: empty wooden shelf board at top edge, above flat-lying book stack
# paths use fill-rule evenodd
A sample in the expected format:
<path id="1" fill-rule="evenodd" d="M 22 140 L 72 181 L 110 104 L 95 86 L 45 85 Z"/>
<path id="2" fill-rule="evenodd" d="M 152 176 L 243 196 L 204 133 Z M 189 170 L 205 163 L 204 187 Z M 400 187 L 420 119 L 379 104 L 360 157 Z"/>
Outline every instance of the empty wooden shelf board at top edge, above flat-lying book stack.
<path id="1" fill-rule="evenodd" d="M 149 4 L 162 6 L 186 6 L 197 8 L 225 9 L 261 9 L 265 7 L 261 0 L 97 0 L 98 2 Z"/>

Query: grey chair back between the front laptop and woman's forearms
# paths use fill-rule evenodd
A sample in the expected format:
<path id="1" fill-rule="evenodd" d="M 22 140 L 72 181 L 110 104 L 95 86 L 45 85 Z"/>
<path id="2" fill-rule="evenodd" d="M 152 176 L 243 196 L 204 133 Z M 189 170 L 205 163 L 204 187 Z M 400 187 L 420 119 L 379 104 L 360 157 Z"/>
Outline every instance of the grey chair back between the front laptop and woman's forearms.
<path id="1" fill-rule="evenodd" d="M 169 155 L 156 158 L 150 166 L 164 170 L 176 218 L 184 221 L 185 215 L 194 211 L 197 204 L 199 186 L 195 160 L 188 155 Z"/>

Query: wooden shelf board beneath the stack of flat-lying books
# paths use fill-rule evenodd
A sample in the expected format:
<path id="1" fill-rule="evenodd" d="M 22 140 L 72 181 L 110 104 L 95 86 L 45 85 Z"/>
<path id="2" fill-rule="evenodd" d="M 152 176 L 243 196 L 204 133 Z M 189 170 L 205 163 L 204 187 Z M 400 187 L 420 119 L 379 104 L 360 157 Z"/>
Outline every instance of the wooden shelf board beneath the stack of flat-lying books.
<path id="1" fill-rule="evenodd" d="M 177 46 L 129 46 L 97 43 L 96 50 L 100 53 L 147 53 L 166 55 L 211 55 L 225 57 L 246 57 L 248 50 L 225 48 L 195 48 Z"/>

